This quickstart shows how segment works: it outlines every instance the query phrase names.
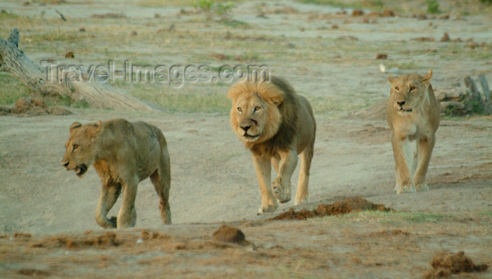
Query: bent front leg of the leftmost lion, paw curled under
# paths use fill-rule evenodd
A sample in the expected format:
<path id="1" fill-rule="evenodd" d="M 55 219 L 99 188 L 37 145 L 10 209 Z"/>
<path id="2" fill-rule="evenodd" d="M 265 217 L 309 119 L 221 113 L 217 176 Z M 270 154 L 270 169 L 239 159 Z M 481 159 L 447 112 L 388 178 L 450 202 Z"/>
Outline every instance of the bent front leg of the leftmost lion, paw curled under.
<path id="1" fill-rule="evenodd" d="M 96 222 L 103 228 L 116 228 L 116 217 L 108 220 L 106 215 L 115 205 L 119 194 L 122 191 L 122 185 L 119 183 L 103 183 L 101 194 L 99 195 L 98 207 L 96 209 Z"/>

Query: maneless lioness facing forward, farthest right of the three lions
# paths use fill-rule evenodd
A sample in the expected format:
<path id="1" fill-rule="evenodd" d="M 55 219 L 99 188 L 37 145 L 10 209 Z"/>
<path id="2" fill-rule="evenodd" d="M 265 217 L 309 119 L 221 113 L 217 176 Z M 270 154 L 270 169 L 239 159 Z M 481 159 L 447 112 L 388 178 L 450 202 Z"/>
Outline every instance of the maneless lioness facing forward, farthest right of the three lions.
<path id="1" fill-rule="evenodd" d="M 386 119 L 393 130 L 396 194 L 429 190 L 425 174 L 439 127 L 439 104 L 430 84 L 431 77 L 432 70 L 423 77 L 418 74 L 388 77 L 391 89 Z M 408 141 L 413 140 L 417 141 L 417 150 L 412 156 Z"/>

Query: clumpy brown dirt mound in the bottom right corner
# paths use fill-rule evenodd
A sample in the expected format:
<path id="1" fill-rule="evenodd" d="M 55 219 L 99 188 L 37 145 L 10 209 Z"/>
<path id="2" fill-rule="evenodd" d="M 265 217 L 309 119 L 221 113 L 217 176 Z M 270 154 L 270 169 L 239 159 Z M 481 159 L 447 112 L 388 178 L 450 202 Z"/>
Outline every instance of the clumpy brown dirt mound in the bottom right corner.
<path id="1" fill-rule="evenodd" d="M 451 273 L 486 271 L 488 268 L 486 264 L 473 264 L 472 259 L 462 251 L 456 254 L 438 253 L 432 258 L 431 266 L 434 270 L 425 274 L 425 278 L 446 278 Z"/>

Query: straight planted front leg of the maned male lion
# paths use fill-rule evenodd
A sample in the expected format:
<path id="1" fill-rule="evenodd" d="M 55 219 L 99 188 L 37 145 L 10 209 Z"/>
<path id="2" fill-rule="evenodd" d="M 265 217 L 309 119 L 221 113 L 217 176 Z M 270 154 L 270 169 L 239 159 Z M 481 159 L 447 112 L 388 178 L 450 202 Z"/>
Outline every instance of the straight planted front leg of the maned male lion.
<path id="1" fill-rule="evenodd" d="M 271 193 L 271 163 L 268 156 L 253 154 L 254 169 L 257 171 L 259 190 L 261 191 L 261 207 L 259 213 L 273 212 L 278 207 L 278 202 Z"/>

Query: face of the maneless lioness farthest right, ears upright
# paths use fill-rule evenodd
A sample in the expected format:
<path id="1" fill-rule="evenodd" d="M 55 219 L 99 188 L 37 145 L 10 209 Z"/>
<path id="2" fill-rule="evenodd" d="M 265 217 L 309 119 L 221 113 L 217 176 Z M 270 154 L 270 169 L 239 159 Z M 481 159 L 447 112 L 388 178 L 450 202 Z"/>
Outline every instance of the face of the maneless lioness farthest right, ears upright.
<path id="1" fill-rule="evenodd" d="M 407 115 L 420 107 L 427 96 L 432 70 L 424 77 L 419 74 L 405 74 L 401 77 L 389 75 L 390 94 L 394 97 L 394 108 L 399 115 Z"/>

